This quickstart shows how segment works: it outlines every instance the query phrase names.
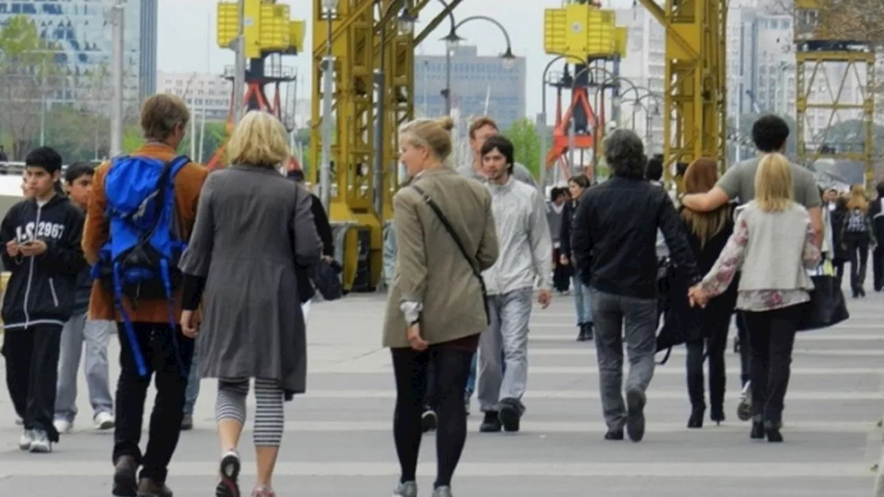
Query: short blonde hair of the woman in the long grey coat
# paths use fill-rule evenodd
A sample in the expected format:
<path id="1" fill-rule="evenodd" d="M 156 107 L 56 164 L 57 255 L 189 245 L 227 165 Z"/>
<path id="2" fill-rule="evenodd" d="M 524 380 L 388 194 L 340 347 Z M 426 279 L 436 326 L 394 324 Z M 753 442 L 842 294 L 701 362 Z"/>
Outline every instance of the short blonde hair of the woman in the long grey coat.
<path id="1" fill-rule="evenodd" d="M 286 128 L 279 119 L 264 111 L 249 111 L 227 143 L 227 157 L 231 164 L 274 169 L 291 155 Z"/>

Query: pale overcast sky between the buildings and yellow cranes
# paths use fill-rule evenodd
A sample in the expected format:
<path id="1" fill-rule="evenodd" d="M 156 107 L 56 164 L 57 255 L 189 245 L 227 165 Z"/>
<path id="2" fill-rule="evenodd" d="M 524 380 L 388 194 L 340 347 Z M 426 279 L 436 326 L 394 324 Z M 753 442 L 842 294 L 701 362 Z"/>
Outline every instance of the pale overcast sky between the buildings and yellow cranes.
<path id="1" fill-rule="evenodd" d="M 313 35 L 310 19 L 313 16 L 313 0 L 281 0 L 281 2 L 292 6 L 294 19 L 308 21 L 305 42 L 308 45 L 307 50 L 312 51 L 310 44 Z M 455 19 L 485 15 L 497 19 L 507 28 L 513 42 L 513 53 L 528 59 L 527 112 L 530 117 L 540 111 L 540 73 L 552 58 L 544 53 L 544 10 L 560 7 L 561 4 L 561 0 L 463 0 L 454 9 Z M 606 0 L 605 6 L 627 8 L 632 6 L 632 0 Z M 424 25 L 442 10 L 442 5 L 431 2 L 427 9 L 421 12 Z M 233 64 L 232 51 L 217 48 L 216 10 L 216 0 L 159 0 L 157 67 L 160 71 L 222 73 L 225 65 Z M 420 29 L 420 26 L 421 24 L 418 24 L 416 29 Z M 436 28 L 436 32 L 418 47 L 418 53 L 445 53 L 445 43 L 438 39 L 447 33 L 448 25 L 441 24 Z M 488 22 L 478 20 L 468 22 L 458 29 L 458 34 L 467 39 L 464 43 L 478 45 L 481 55 L 496 55 L 506 49 L 503 35 Z M 288 64 L 295 66 L 302 78 L 309 81 L 310 57 L 305 54 L 286 58 L 290 61 Z M 299 87 L 309 88 L 306 85 Z M 308 97 L 303 92 L 300 96 Z M 549 97 L 548 104 L 553 104 L 552 96 Z"/>

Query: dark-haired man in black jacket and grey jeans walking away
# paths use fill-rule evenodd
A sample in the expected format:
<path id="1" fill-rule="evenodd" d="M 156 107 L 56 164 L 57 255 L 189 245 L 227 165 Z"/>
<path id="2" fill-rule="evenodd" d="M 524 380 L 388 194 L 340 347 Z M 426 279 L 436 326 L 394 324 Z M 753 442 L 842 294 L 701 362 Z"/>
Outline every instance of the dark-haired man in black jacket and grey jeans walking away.
<path id="1" fill-rule="evenodd" d="M 641 139 L 618 129 L 605 141 L 613 177 L 581 197 L 572 234 L 575 267 L 592 293 L 606 440 L 644 437 L 645 390 L 657 352 L 657 230 L 691 283 L 701 275 L 663 188 L 644 180 Z M 622 329 L 625 325 L 625 329 Z M 622 389 L 623 337 L 629 349 L 626 402 Z"/>

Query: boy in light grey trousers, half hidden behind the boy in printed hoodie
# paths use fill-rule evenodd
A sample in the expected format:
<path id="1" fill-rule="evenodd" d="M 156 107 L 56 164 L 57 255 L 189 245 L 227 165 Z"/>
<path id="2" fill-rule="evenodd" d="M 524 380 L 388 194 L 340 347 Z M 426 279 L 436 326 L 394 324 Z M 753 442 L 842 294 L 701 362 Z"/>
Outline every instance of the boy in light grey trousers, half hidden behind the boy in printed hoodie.
<path id="1" fill-rule="evenodd" d="M 71 203 L 86 211 L 92 192 L 95 165 L 78 162 L 65 170 L 65 189 Z M 92 292 L 90 268 L 84 267 L 77 277 L 73 315 L 61 332 L 58 354 L 55 427 L 59 433 L 71 432 L 77 417 L 77 369 L 83 356 L 83 373 L 93 409 L 92 420 L 97 430 L 114 426 L 113 399 L 108 385 L 108 342 L 114 323 L 106 319 L 88 319 L 89 294 Z"/>

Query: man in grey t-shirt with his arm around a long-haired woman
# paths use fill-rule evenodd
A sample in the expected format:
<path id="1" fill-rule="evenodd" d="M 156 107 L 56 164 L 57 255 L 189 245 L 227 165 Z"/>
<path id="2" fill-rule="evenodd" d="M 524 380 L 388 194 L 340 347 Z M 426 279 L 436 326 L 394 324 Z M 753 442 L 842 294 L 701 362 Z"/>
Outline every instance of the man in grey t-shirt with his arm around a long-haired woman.
<path id="1" fill-rule="evenodd" d="M 782 153 L 788 139 L 789 125 L 779 116 L 762 116 L 752 125 L 752 140 L 761 155 Z M 705 194 L 684 195 L 682 205 L 697 212 L 710 212 L 735 199 L 739 199 L 740 203 L 751 202 L 755 198 L 755 173 L 758 172 L 760 161 L 761 157 L 755 157 L 734 164 L 713 189 Z M 822 242 L 823 218 L 817 182 L 812 172 L 797 164 L 792 164 L 792 182 L 795 202 L 804 205 L 811 216 L 814 240 L 819 246 Z"/>

